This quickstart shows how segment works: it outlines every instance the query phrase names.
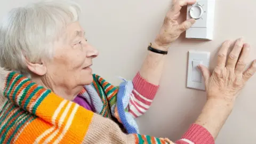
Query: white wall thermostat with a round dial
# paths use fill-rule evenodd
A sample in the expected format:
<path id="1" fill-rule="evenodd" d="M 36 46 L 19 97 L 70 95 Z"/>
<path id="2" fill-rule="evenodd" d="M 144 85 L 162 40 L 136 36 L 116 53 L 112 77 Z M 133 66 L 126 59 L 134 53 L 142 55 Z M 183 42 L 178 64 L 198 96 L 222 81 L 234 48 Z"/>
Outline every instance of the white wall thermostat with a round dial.
<path id="1" fill-rule="evenodd" d="M 186 38 L 213 39 L 215 0 L 197 0 L 195 4 L 188 5 L 187 19 L 196 22 L 186 31 Z"/>

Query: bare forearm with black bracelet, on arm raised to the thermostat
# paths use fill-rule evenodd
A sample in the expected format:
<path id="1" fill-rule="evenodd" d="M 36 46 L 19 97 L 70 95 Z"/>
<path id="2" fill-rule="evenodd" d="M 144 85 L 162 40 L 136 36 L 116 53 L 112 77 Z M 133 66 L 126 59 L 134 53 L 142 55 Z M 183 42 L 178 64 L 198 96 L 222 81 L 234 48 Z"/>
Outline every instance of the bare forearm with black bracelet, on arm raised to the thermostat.
<path id="1" fill-rule="evenodd" d="M 152 43 L 152 47 L 158 50 L 166 49 L 155 43 Z M 148 81 L 149 83 L 159 85 L 159 81 L 163 73 L 165 57 L 166 56 L 164 54 L 158 54 L 148 51 L 148 55 L 139 71 L 140 75 L 145 78 L 146 81 Z"/>

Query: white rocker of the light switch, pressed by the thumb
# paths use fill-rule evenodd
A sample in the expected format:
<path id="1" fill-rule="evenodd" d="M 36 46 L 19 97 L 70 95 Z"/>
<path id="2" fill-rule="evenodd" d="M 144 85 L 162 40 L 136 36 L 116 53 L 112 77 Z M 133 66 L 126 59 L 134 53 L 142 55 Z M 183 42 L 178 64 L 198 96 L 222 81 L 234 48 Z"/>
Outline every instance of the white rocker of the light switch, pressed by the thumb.
<path id="1" fill-rule="evenodd" d="M 197 68 L 198 65 L 202 64 L 202 60 L 193 60 L 192 61 L 192 65 L 193 65 L 193 69 L 192 69 L 192 81 L 193 82 L 198 82 L 201 83 L 202 82 L 202 74 L 201 71 Z"/>

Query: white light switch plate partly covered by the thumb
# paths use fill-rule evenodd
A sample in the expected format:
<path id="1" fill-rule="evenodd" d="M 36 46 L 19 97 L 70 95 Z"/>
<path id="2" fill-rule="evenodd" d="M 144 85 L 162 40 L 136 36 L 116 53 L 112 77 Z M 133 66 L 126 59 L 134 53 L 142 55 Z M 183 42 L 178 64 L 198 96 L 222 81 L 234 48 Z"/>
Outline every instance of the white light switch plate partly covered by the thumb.
<path id="1" fill-rule="evenodd" d="M 197 68 L 199 64 L 209 68 L 210 52 L 189 51 L 187 69 L 187 87 L 197 90 L 205 90 L 204 79 L 201 71 Z"/>

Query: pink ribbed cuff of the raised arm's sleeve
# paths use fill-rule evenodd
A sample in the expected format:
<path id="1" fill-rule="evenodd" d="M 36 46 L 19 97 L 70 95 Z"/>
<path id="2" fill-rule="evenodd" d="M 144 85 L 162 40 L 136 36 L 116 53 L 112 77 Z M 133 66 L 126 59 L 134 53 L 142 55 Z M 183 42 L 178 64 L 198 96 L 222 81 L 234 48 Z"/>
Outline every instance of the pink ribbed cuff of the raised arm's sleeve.
<path id="1" fill-rule="evenodd" d="M 133 87 L 136 91 L 138 91 L 145 98 L 153 100 L 155 98 L 156 92 L 158 90 L 159 85 L 154 85 L 146 81 L 139 72 L 133 78 Z"/>

